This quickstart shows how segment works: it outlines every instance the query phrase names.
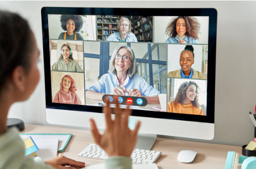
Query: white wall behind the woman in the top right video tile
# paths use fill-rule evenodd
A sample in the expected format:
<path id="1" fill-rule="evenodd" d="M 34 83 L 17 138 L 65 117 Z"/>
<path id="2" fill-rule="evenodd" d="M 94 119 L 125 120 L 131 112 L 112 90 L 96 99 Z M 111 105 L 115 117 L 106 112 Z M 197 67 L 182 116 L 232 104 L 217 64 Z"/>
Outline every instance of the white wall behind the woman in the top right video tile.
<path id="1" fill-rule="evenodd" d="M 154 17 L 154 42 L 164 43 L 169 36 L 165 34 L 166 27 L 170 20 L 177 16 L 155 16 Z M 200 44 L 208 44 L 208 27 L 209 17 L 208 16 L 195 16 L 200 23 L 200 33 L 198 34 L 198 42 Z"/>

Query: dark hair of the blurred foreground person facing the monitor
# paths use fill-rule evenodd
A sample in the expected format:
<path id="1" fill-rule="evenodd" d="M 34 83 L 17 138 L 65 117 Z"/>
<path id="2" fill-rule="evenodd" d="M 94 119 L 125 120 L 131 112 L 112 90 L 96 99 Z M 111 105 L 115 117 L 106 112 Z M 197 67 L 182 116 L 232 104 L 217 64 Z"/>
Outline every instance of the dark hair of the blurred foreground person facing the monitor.
<path id="1" fill-rule="evenodd" d="M 7 11 L 0 11 L 0 25 L 5 25 L 6 28 L 0 29 L 1 93 L 15 67 L 22 66 L 26 73 L 29 72 L 33 33 L 26 19 Z"/>

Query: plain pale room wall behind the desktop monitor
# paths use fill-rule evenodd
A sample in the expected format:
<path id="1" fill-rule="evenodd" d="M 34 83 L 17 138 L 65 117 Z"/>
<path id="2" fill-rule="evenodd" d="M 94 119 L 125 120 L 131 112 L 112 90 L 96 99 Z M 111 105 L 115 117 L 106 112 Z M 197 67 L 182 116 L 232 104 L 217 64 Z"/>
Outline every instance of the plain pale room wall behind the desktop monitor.
<path id="1" fill-rule="evenodd" d="M 217 23 L 217 58 L 216 58 L 216 94 L 215 94 L 215 137 L 213 140 L 198 140 L 181 137 L 161 136 L 186 139 L 198 142 L 242 146 L 253 138 L 253 124 L 248 111 L 253 111 L 256 104 L 254 48 L 256 46 L 256 2 L 255 1 L 136 1 L 134 3 L 105 1 L 0 1 L 0 9 L 18 12 L 27 18 L 35 34 L 40 53 L 42 53 L 41 8 L 42 7 L 144 7 L 144 8 L 215 8 L 218 11 Z M 248 38 L 249 36 L 249 38 Z M 40 62 L 41 79 L 26 102 L 15 103 L 9 112 L 10 118 L 19 118 L 26 124 L 59 126 L 48 124 L 45 111 L 44 62 Z M 85 122 L 86 123 L 86 122 Z M 79 128 L 63 126 L 67 128 Z M 84 129 L 84 128 L 83 128 Z M 88 128 L 86 128 L 88 129 Z"/>

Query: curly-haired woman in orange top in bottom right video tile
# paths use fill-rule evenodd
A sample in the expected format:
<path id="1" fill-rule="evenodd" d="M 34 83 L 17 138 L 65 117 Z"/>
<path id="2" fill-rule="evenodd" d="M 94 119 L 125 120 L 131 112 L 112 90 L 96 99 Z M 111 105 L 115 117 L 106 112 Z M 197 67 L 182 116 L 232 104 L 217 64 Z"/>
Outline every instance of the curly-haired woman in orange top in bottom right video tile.
<path id="1" fill-rule="evenodd" d="M 182 83 L 174 101 L 167 104 L 167 111 L 204 116 L 203 109 L 198 103 L 198 89 L 199 87 L 194 81 Z"/>

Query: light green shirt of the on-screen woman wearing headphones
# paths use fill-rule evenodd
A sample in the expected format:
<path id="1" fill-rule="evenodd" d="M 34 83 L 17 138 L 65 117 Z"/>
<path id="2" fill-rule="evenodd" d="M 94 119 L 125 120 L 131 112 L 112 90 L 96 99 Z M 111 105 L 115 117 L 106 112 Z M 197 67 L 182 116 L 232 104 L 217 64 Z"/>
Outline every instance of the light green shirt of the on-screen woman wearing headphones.
<path id="1" fill-rule="evenodd" d="M 75 61 L 70 59 L 68 64 L 64 59 L 58 59 L 54 65 L 52 65 L 52 70 L 56 71 L 70 71 L 70 72 L 83 72 L 80 65 Z"/>

